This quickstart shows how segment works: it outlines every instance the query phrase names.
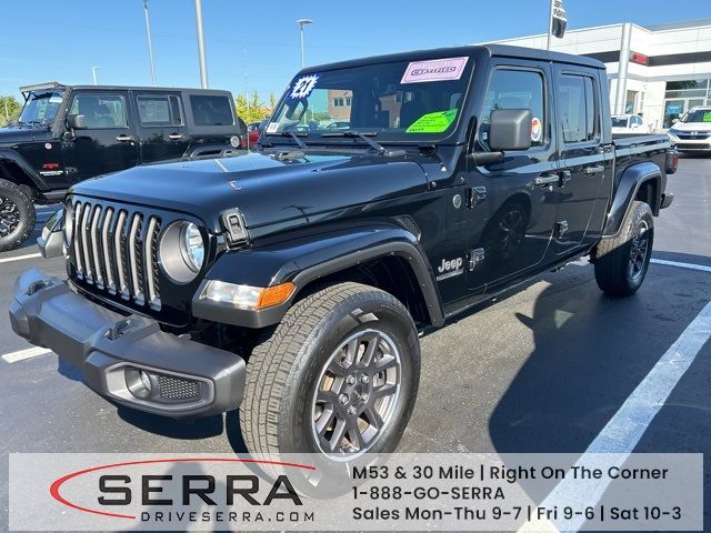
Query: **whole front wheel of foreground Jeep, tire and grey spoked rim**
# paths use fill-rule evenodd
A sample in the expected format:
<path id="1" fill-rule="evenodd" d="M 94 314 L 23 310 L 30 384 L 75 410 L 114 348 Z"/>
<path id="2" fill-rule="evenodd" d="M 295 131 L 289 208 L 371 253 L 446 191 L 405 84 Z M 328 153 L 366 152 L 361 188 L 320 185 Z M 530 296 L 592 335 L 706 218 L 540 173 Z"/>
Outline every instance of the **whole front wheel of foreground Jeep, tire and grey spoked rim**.
<path id="1" fill-rule="evenodd" d="M 391 294 L 339 283 L 292 306 L 251 353 L 240 409 L 252 454 L 351 461 L 392 452 L 418 392 L 420 346 Z"/>

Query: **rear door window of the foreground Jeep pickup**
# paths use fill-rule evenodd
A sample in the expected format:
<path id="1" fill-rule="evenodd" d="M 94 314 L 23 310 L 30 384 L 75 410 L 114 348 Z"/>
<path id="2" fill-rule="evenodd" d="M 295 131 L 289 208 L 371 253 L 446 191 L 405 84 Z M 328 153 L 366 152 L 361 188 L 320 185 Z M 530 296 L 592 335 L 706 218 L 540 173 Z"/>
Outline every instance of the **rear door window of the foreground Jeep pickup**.
<path id="1" fill-rule="evenodd" d="M 592 79 L 563 74 L 560 78 L 558 109 L 563 125 L 563 141 L 584 142 L 597 137 L 597 104 Z"/>

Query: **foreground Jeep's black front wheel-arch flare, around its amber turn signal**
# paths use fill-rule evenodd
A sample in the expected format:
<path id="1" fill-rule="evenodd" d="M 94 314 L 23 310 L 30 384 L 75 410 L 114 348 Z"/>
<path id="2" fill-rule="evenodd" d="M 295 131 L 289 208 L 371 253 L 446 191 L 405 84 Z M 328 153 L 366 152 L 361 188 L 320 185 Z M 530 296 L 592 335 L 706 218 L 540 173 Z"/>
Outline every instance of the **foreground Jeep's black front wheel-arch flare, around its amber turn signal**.
<path id="1" fill-rule="evenodd" d="M 281 321 L 296 296 L 308 284 L 389 255 L 402 258 L 410 265 L 427 304 L 430 322 L 435 326 L 442 325 L 444 315 L 439 290 L 417 238 L 403 228 L 385 223 L 341 229 L 252 250 L 227 252 L 217 260 L 200 284 L 192 300 L 192 313 L 214 322 L 247 328 L 273 325 Z M 297 289 L 280 305 L 250 311 L 200 299 L 209 280 L 251 286 L 292 282 Z"/>

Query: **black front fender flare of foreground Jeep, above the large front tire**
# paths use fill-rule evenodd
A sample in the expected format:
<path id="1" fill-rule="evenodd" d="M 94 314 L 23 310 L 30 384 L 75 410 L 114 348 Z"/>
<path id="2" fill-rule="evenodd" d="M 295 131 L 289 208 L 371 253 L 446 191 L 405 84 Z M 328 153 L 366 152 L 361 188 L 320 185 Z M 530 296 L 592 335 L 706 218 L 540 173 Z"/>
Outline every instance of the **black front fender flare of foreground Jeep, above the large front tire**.
<path id="1" fill-rule="evenodd" d="M 280 305 L 247 311 L 201 300 L 199 295 L 209 280 L 252 286 L 292 282 L 297 289 Z M 390 292 L 421 324 L 439 326 L 444 322 L 434 275 L 417 237 L 385 223 L 228 252 L 218 259 L 198 290 L 193 314 L 233 325 L 266 328 L 280 322 L 294 302 L 326 284 L 342 281 Z"/>

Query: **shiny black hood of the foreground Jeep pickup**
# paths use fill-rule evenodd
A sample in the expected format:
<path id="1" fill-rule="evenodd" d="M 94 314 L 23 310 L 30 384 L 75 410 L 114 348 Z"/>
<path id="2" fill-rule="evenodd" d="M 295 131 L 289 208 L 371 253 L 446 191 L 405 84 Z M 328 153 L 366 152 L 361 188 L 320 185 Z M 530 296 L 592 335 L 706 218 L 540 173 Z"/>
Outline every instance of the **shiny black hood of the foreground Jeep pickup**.
<path id="1" fill-rule="evenodd" d="M 84 181 L 73 193 L 194 214 L 220 230 L 239 208 L 248 228 L 301 225 L 327 213 L 427 190 L 419 155 L 323 154 L 279 161 L 234 158 L 136 167 Z M 428 158 L 431 161 L 431 158 Z M 286 223 L 291 221 L 291 223 Z"/>

